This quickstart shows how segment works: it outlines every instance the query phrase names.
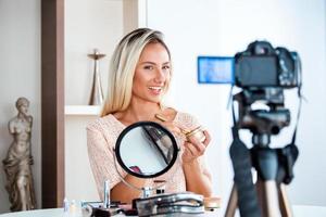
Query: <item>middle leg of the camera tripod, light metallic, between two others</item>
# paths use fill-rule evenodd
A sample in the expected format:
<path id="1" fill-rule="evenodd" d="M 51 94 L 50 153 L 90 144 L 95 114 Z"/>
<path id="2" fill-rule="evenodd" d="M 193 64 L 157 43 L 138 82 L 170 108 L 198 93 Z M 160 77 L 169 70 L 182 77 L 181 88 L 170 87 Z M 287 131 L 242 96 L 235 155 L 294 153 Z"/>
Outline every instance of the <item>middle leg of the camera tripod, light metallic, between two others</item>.
<path id="1" fill-rule="evenodd" d="M 256 188 L 263 216 L 280 216 L 278 206 L 278 189 L 275 180 L 258 180 Z"/>

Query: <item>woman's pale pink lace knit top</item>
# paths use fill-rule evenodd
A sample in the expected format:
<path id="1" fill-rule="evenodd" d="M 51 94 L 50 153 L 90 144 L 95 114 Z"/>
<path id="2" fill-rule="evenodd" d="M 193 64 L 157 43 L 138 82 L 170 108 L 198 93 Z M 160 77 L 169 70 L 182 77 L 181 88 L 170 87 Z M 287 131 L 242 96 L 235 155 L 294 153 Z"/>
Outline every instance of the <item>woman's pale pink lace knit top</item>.
<path id="1" fill-rule="evenodd" d="M 198 120 L 186 113 L 178 112 L 174 123 L 185 129 L 193 129 L 199 126 Z M 116 183 L 121 182 L 115 166 L 113 148 L 120 133 L 124 130 L 125 126 L 118 122 L 113 115 L 101 117 L 87 126 L 87 146 L 88 156 L 92 174 L 97 183 L 100 197 L 103 200 L 103 183 L 104 180 L 110 181 L 110 187 L 113 188 Z M 176 136 L 178 146 L 184 149 L 185 138 Z M 147 179 L 147 187 L 154 187 L 154 180 L 166 180 L 165 192 L 181 192 L 186 191 L 186 180 L 181 166 L 181 153 L 178 155 L 174 166 L 165 174 Z M 202 166 L 204 166 L 203 161 Z M 117 165 L 121 175 L 125 177 L 127 174 L 123 168 Z"/>

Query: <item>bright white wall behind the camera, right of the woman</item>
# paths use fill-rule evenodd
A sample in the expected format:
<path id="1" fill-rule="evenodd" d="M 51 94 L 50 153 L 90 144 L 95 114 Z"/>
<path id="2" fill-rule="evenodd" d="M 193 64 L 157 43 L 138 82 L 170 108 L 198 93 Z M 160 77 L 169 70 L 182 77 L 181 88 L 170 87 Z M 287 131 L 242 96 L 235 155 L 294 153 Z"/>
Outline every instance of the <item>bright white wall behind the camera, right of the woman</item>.
<path id="1" fill-rule="evenodd" d="M 227 202 L 233 169 L 228 157 L 230 111 L 226 110 L 229 87 L 197 84 L 198 55 L 234 55 L 256 39 L 297 50 L 303 65 L 303 104 L 298 146 L 300 158 L 290 186 L 293 204 L 326 205 L 326 5 L 323 0 L 150 0 L 148 25 L 162 30 L 174 59 L 171 98 L 177 108 L 198 116 L 210 129 L 213 142 L 209 165 L 214 192 Z M 287 93 L 287 106 L 294 117 L 297 101 Z M 294 118 L 293 118 L 294 119 Z M 292 120 L 293 123 L 294 120 Z M 272 145 L 290 141 L 293 127 L 283 130 Z M 247 137 L 248 139 L 249 137 Z"/>

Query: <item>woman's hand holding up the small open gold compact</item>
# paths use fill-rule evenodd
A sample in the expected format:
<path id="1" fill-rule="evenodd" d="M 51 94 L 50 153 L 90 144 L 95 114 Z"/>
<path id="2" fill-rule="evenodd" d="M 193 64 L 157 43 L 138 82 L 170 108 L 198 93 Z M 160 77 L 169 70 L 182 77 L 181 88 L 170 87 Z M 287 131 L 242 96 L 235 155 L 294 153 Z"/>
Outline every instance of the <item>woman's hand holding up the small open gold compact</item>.
<path id="1" fill-rule="evenodd" d="M 188 141 L 185 141 L 185 150 L 183 153 L 183 162 L 186 164 L 192 163 L 199 156 L 203 155 L 209 143 L 211 142 L 211 136 L 206 130 L 203 130 L 205 140 L 200 142 L 196 138 L 189 138 Z"/>

